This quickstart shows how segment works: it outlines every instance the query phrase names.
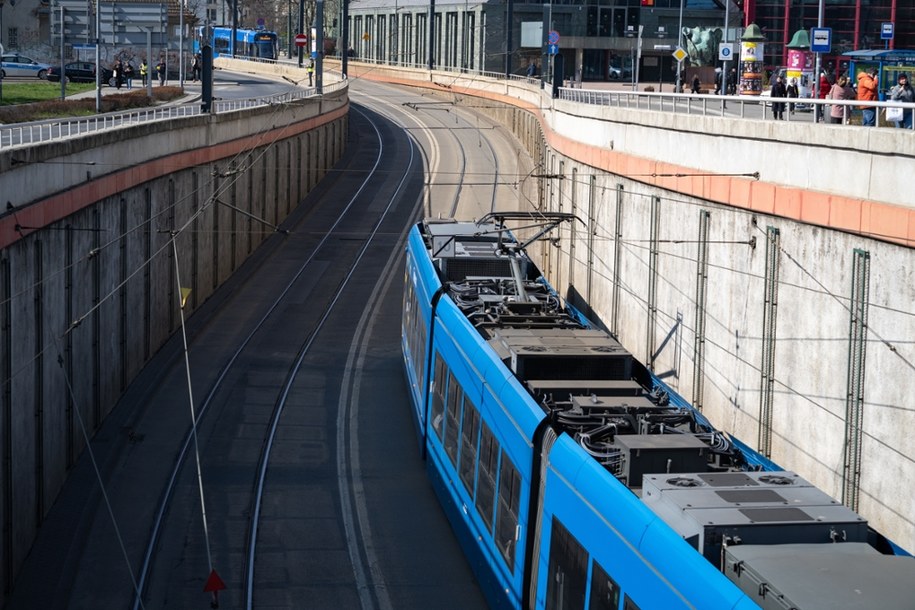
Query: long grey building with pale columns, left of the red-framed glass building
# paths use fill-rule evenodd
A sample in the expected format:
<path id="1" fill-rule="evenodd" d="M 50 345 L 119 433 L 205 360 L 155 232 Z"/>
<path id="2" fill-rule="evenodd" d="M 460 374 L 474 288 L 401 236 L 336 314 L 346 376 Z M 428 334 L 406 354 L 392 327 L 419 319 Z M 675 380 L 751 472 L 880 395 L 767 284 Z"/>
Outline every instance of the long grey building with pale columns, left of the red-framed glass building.
<path id="1" fill-rule="evenodd" d="M 429 27 L 429 3 L 411 0 L 354 0 L 349 8 L 349 46 L 361 59 L 401 65 L 432 64 L 463 71 L 525 74 L 533 63 L 540 74 L 552 63 L 543 34 L 556 32 L 563 76 L 582 80 L 628 80 L 639 67 L 644 82 L 673 82 L 673 51 L 686 40 L 684 28 L 724 26 L 714 0 L 555 0 L 509 3 L 438 2 Z M 509 13 L 511 17 L 509 18 Z M 681 18 L 682 14 L 682 18 Z M 735 11 L 732 24 L 739 24 Z M 507 25 L 507 24 L 510 24 Z M 639 47 L 641 46 L 641 53 Z"/>

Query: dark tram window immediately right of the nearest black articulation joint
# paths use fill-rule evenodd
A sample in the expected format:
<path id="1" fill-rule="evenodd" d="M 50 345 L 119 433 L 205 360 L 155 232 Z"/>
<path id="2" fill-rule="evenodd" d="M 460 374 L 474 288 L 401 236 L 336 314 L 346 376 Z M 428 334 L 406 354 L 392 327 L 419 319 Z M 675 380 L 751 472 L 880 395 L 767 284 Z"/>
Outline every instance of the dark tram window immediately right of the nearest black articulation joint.
<path id="1" fill-rule="evenodd" d="M 587 580 L 588 554 L 559 519 L 553 517 L 546 610 L 584 608 Z"/>

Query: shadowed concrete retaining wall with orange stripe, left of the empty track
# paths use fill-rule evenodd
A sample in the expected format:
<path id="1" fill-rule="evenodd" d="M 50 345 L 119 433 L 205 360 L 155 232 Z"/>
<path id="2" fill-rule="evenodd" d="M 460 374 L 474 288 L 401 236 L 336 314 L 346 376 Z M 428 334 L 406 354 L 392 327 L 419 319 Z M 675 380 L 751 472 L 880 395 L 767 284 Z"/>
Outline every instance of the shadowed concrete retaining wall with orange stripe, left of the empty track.
<path id="1" fill-rule="evenodd" d="M 347 110 L 344 89 L 0 154 L 4 592 L 83 426 L 179 327 L 175 257 L 189 316 L 340 158 Z"/>

